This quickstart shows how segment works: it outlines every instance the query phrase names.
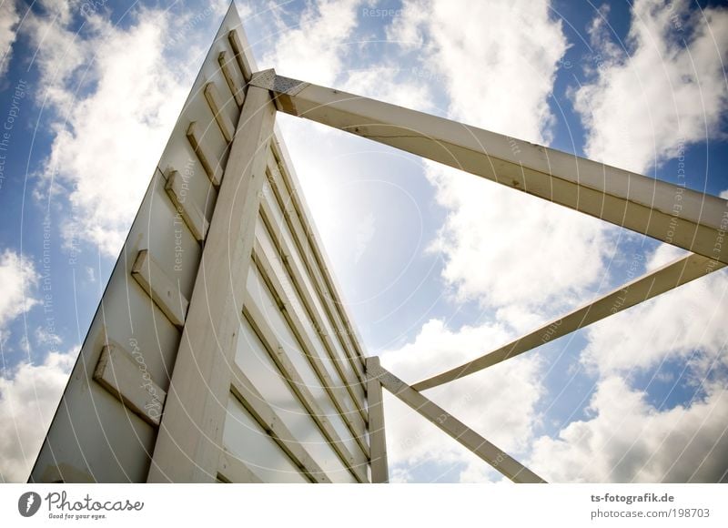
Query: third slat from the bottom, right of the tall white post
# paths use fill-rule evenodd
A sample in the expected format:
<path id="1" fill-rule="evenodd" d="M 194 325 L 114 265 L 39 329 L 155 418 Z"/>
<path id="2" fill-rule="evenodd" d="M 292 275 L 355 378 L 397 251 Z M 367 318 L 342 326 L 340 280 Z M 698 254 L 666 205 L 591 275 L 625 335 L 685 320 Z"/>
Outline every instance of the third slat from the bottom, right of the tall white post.
<path id="1" fill-rule="evenodd" d="M 359 482 L 368 482 L 367 474 L 362 468 L 356 463 L 354 457 L 349 452 L 346 444 L 341 441 L 339 434 L 337 434 L 334 426 L 331 424 L 326 414 L 321 410 L 319 404 L 316 402 L 311 391 L 308 390 L 306 383 L 301 378 L 296 367 L 294 367 L 291 360 L 288 359 L 286 350 L 278 342 L 278 338 L 275 333 L 270 330 L 268 324 L 265 322 L 265 317 L 254 300 L 250 297 L 246 297 L 245 304 L 243 305 L 243 317 L 245 317 L 250 326 L 258 335 L 258 339 L 263 343 L 263 346 L 268 351 L 270 359 L 276 363 L 278 370 L 283 375 L 283 378 L 288 382 L 288 386 L 298 397 L 298 401 L 301 402 L 303 407 L 308 411 L 313 421 L 319 426 L 319 430 L 323 433 L 326 440 L 329 442 L 333 450 L 339 455 L 339 459 L 343 462 L 344 466 L 351 472 L 352 475 Z"/>

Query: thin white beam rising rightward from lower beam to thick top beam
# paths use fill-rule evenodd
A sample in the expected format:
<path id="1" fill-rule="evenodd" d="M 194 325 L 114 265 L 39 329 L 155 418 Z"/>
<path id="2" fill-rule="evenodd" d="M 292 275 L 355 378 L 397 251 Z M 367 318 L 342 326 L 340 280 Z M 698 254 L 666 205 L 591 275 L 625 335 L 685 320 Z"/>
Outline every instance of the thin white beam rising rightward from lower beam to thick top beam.
<path id="1" fill-rule="evenodd" d="M 533 350 L 542 344 L 556 340 L 572 331 L 579 330 L 593 322 L 602 320 L 622 310 L 639 304 L 640 302 L 677 288 L 682 284 L 698 279 L 704 275 L 723 268 L 723 264 L 711 265 L 713 261 L 700 255 L 688 255 L 674 260 L 661 268 L 646 273 L 638 279 L 614 289 L 601 297 L 592 300 L 586 305 L 572 310 L 560 319 L 552 320 L 536 330 L 521 336 L 496 350 L 468 361 L 462 365 L 432 376 L 427 380 L 412 385 L 415 391 L 426 391 L 448 381 L 458 380 L 473 372 L 482 371 L 501 361 L 513 358 L 528 350 Z"/>

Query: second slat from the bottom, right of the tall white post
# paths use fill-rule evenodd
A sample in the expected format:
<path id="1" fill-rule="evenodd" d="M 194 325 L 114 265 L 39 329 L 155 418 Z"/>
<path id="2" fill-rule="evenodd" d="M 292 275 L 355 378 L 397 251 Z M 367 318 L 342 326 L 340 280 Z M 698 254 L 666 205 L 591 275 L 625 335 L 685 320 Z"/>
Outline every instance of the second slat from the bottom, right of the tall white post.
<path id="1" fill-rule="evenodd" d="M 232 372 L 231 391 L 243 404 L 243 407 L 258 421 L 260 427 L 268 432 L 270 437 L 278 443 L 280 449 L 288 454 L 291 461 L 306 474 L 311 482 L 331 482 L 326 472 L 308 454 L 303 445 L 296 441 L 276 411 L 273 411 L 273 408 L 263 399 L 253 382 L 248 380 L 248 376 L 243 374 L 243 371 L 234 362 L 230 364 L 230 370 Z"/>

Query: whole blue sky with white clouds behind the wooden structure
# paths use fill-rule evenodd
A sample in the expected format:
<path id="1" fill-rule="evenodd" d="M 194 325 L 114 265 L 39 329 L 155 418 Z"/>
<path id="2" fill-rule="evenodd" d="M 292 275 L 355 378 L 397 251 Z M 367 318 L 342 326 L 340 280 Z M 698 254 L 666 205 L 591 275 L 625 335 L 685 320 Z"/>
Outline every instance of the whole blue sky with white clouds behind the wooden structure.
<path id="1" fill-rule="evenodd" d="M 25 480 L 226 2 L 0 0 L 0 482 Z M 715 2 L 238 2 L 258 66 L 728 198 Z M 681 251 L 278 116 L 369 354 L 420 381 Z M 684 166 L 679 166 L 684 164 Z M 428 391 L 553 482 L 728 480 L 728 274 Z M 393 398 L 398 482 L 501 479 Z"/>

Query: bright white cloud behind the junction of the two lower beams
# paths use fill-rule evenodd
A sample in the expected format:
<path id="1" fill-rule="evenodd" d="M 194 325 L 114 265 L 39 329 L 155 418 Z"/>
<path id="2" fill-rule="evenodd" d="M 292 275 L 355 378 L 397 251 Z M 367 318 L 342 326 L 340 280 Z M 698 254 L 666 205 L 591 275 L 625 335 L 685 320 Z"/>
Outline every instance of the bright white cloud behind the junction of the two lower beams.
<path id="1" fill-rule="evenodd" d="M 417 338 L 381 355 L 382 365 L 408 382 L 480 355 L 483 350 L 506 342 L 511 335 L 499 323 L 463 327 L 453 331 L 441 320 L 423 325 Z M 427 391 L 426 396 L 456 416 L 484 438 L 511 455 L 524 451 L 538 421 L 535 406 L 541 397 L 540 360 L 531 355 L 501 363 L 459 381 Z M 427 462 L 452 466 L 464 464 L 462 482 L 498 473 L 486 462 L 462 448 L 414 411 L 385 402 L 387 409 L 388 457 L 400 480 L 410 479 L 411 469 Z"/>

